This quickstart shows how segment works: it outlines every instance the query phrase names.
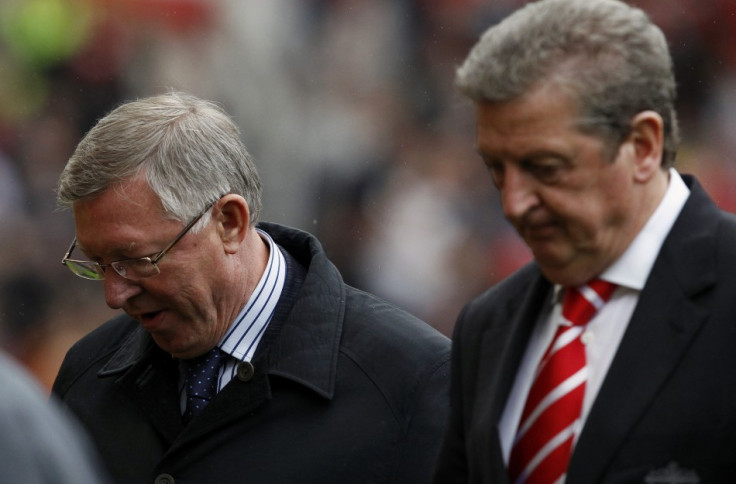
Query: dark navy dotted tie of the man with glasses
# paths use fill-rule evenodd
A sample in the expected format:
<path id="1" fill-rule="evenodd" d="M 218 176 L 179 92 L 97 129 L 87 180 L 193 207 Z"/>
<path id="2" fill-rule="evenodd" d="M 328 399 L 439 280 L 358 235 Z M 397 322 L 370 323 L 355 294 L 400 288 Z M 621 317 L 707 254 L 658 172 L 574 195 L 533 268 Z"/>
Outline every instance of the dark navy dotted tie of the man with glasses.
<path id="1" fill-rule="evenodd" d="M 183 415 L 185 424 L 201 412 L 217 393 L 221 361 L 222 352 L 217 347 L 196 358 L 182 360 L 184 387 L 187 392 L 187 406 Z"/>

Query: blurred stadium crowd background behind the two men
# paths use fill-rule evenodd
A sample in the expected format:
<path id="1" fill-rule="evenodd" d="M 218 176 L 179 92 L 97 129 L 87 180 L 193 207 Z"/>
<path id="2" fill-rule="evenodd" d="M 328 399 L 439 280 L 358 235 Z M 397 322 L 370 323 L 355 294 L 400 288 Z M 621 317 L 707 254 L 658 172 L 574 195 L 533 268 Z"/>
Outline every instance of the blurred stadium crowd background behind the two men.
<path id="1" fill-rule="evenodd" d="M 530 256 L 474 153 L 455 68 L 521 0 L 1 0 L 0 344 L 50 386 L 113 315 L 59 262 L 74 236 L 55 185 L 124 100 L 221 103 L 264 181 L 264 219 L 317 235 L 348 283 L 445 334 Z M 736 210 L 736 2 L 635 3 L 668 36 L 677 167 Z"/>

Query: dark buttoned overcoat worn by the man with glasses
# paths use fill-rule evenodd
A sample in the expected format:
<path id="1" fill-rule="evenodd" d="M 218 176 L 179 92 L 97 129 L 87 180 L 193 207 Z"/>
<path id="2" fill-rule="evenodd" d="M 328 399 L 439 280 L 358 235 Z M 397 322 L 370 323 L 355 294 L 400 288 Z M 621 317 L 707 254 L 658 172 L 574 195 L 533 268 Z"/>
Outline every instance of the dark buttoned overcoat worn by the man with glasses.
<path id="1" fill-rule="evenodd" d="M 182 427 L 176 361 L 122 316 L 69 351 L 53 391 L 121 483 L 428 482 L 449 340 L 346 286 L 310 235 L 261 228 L 288 252 L 288 281 L 252 378 Z"/>

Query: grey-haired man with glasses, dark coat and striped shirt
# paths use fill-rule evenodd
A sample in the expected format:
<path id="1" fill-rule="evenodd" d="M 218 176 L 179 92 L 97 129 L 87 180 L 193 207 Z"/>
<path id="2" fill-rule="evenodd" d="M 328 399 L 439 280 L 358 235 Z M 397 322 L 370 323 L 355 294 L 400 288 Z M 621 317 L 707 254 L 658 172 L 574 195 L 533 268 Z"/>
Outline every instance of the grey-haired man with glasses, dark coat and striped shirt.
<path id="1" fill-rule="evenodd" d="M 310 234 L 259 222 L 237 127 L 183 93 L 98 122 L 58 190 L 62 263 L 124 314 L 53 391 L 117 482 L 428 482 L 449 340 L 347 286 Z"/>

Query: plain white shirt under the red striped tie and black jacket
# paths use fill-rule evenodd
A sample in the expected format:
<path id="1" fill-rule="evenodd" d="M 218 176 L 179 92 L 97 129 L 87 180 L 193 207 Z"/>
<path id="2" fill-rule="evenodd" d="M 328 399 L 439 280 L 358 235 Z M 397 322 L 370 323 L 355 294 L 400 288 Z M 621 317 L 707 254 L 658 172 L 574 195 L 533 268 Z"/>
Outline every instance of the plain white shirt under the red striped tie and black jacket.
<path id="1" fill-rule="evenodd" d="M 670 168 L 669 175 L 667 192 L 657 209 L 623 255 L 600 275 L 601 279 L 616 283 L 619 287 L 598 314 L 590 320 L 582 336 L 588 364 L 588 380 L 581 418 L 583 424 L 618 350 L 639 301 L 639 293 L 644 288 L 664 239 L 690 195 L 690 190 L 677 171 Z M 542 311 L 539 323 L 532 332 L 499 422 L 501 448 L 507 463 L 534 372 L 562 319 L 562 301 L 559 297 L 561 289 L 560 286 L 555 286 L 552 304 Z"/>

